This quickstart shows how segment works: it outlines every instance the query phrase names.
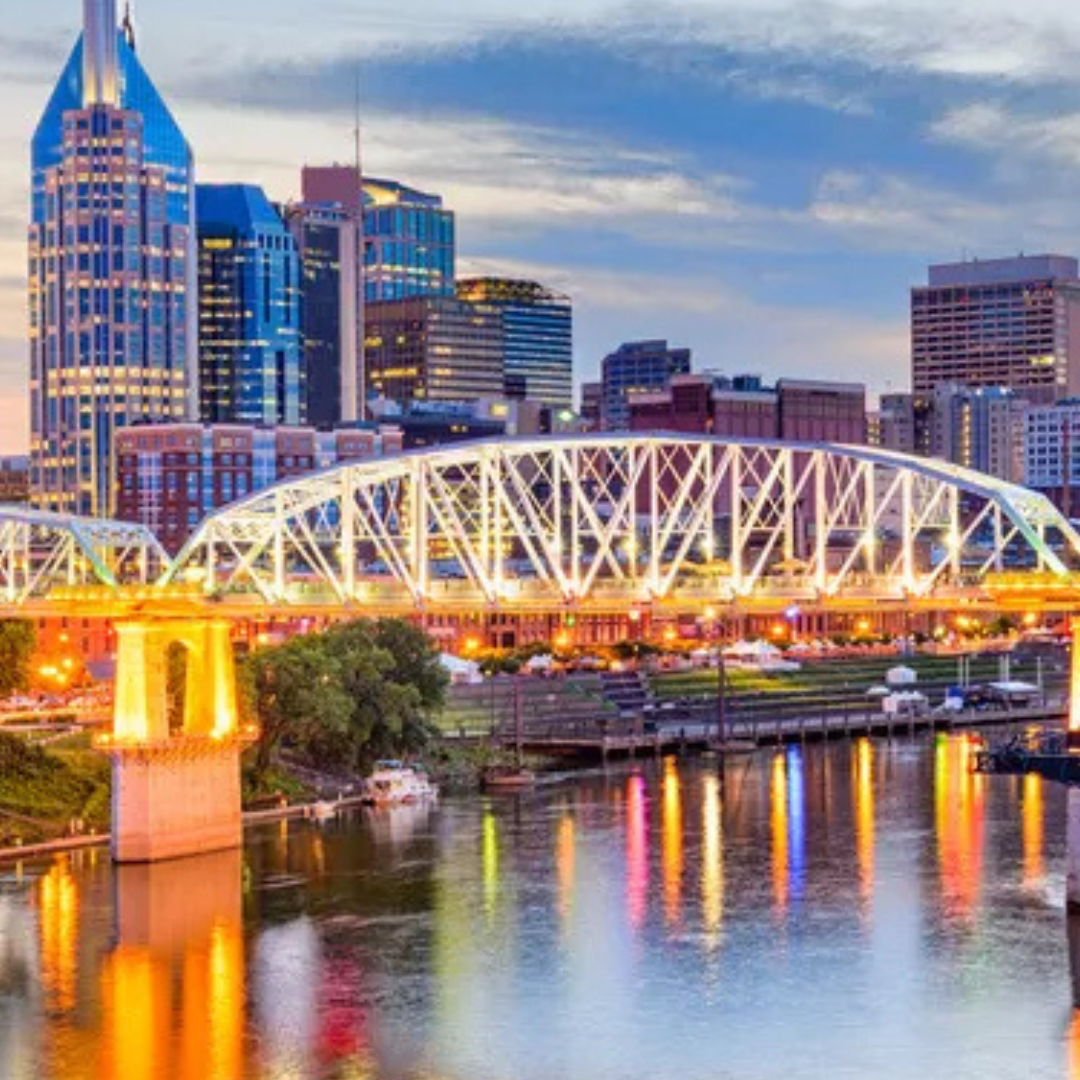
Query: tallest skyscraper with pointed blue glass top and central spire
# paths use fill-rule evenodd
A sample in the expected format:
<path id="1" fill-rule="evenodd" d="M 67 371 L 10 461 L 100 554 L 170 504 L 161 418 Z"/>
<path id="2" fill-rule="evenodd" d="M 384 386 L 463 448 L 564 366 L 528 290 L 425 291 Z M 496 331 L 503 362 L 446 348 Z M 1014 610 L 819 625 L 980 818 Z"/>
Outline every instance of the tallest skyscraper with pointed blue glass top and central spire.
<path id="1" fill-rule="evenodd" d="M 31 488 L 37 507 L 112 508 L 112 442 L 193 410 L 193 162 L 117 21 L 83 33 L 32 144 Z"/>

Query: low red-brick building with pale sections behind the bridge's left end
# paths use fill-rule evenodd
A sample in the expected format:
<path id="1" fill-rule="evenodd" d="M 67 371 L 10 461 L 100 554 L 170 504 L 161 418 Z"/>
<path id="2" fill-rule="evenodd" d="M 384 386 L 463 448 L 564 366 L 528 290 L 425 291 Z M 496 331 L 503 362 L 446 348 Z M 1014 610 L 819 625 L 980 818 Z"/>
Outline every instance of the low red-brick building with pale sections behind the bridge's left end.
<path id="1" fill-rule="evenodd" d="M 387 424 L 333 432 L 229 423 L 129 428 L 117 436 L 117 514 L 146 525 L 176 553 L 221 507 L 292 476 L 401 448 L 401 431 Z"/>

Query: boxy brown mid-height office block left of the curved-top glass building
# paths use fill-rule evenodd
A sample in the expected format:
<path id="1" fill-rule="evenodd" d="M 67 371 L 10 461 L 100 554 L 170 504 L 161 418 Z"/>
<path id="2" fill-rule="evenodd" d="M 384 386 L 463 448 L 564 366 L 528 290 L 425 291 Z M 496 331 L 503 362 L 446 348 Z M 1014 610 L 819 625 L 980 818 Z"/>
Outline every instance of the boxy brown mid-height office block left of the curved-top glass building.
<path id="1" fill-rule="evenodd" d="M 501 397 L 502 312 L 455 297 L 368 303 L 365 356 L 373 393 L 391 401 Z"/>

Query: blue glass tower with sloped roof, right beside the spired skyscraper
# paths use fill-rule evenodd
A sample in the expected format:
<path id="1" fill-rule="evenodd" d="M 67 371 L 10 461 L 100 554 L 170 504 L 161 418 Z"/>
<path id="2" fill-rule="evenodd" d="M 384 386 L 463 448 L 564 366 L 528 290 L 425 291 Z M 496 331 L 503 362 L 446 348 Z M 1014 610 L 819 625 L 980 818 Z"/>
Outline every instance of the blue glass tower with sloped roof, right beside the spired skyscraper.
<path id="1" fill-rule="evenodd" d="M 261 188 L 201 184 L 195 202 L 200 418 L 300 423 L 296 241 Z"/>

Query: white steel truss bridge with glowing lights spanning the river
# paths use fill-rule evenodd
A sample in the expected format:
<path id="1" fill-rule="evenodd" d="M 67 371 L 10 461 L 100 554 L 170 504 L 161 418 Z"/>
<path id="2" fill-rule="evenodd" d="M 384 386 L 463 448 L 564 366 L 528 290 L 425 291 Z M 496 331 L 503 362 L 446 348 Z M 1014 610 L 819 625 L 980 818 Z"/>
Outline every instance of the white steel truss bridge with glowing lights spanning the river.
<path id="1" fill-rule="evenodd" d="M 1077 568 L 1080 535 L 1048 499 L 970 470 L 673 434 L 346 464 L 219 511 L 173 561 L 138 526 L 0 510 L 13 613 L 195 598 L 230 615 L 1068 609 Z"/>

